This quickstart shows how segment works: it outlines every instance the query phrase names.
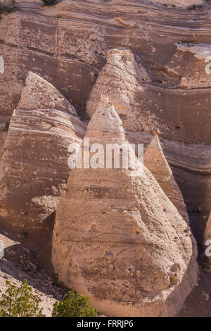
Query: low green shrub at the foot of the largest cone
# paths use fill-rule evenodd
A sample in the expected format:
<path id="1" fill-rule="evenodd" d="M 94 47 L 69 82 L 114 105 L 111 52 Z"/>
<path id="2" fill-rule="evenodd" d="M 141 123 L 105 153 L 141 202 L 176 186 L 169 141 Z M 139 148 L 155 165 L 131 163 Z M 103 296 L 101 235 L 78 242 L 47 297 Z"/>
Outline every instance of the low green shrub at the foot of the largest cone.
<path id="1" fill-rule="evenodd" d="M 52 317 L 96 317 L 88 296 L 69 291 L 63 301 L 53 304 Z"/>

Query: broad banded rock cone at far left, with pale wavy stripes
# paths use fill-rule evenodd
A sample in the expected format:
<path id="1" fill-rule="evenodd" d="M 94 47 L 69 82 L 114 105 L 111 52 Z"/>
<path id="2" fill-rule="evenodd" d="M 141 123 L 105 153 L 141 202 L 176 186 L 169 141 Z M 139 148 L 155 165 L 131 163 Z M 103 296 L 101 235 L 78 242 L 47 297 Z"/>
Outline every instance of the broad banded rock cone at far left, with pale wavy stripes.
<path id="1" fill-rule="evenodd" d="M 68 146 L 80 143 L 85 131 L 68 100 L 29 73 L 0 163 L 1 223 L 47 227 L 70 174 Z"/>

